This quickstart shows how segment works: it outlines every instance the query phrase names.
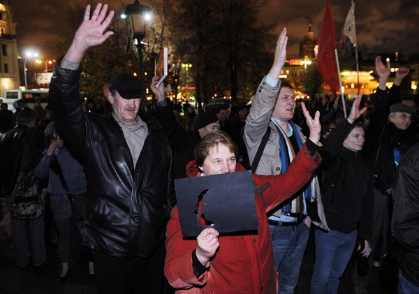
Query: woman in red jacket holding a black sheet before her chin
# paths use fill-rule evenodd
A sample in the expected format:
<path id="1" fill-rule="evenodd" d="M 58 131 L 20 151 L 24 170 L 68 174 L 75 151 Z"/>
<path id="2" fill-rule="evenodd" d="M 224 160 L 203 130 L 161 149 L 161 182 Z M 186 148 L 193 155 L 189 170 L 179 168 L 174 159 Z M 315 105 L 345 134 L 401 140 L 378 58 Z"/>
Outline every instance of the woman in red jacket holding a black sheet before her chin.
<path id="1" fill-rule="evenodd" d="M 173 208 L 166 239 L 165 274 L 177 293 L 277 293 L 272 244 L 266 213 L 307 183 L 320 159 L 317 143 L 321 125 L 304 108 L 310 137 L 281 175 L 254 175 L 253 182 L 270 186 L 263 198 L 255 194 L 258 230 L 254 235 L 222 235 L 205 228 L 196 240 L 182 238 L 179 212 Z M 196 160 L 187 166 L 189 177 L 240 172 L 237 146 L 226 133 L 205 135 L 195 149 Z"/>

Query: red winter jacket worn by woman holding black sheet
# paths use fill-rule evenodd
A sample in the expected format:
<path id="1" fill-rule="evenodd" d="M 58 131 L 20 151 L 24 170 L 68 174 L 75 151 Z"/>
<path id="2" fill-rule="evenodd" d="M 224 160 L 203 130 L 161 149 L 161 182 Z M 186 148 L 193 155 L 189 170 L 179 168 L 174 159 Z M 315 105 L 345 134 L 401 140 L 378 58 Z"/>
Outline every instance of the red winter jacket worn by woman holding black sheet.
<path id="1" fill-rule="evenodd" d="M 255 175 L 253 181 L 262 186 L 270 182 L 263 198 L 255 193 L 258 216 L 256 235 L 221 236 L 209 270 L 195 277 L 192 268 L 192 253 L 196 240 L 184 240 L 175 206 L 168 223 L 166 239 L 165 274 L 176 293 L 277 293 L 277 272 L 274 270 L 270 229 L 266 213 L 291 197 L 311 178 L 320 163 L 310 156 L 306 145 L 302 146 L 289 170 L 281 175 Z M 189 177 L 198 177 L 200 172 L 195 161 L 186 167 Z M 237 164 L 237 172 L 244 168 Z"/>

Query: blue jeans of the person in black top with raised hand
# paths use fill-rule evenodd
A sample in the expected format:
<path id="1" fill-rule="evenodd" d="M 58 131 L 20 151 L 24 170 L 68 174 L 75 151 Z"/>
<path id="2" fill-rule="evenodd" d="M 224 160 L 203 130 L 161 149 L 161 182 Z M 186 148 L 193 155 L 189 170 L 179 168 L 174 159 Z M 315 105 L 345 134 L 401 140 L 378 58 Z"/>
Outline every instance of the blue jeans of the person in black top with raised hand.
<path id="1" fill-rule="evenodd" d="M 315 230 L 316 262 L 311 277 L 311 294 L 337 293 L 339 278 L 351 259 L 358 231 Z"/>

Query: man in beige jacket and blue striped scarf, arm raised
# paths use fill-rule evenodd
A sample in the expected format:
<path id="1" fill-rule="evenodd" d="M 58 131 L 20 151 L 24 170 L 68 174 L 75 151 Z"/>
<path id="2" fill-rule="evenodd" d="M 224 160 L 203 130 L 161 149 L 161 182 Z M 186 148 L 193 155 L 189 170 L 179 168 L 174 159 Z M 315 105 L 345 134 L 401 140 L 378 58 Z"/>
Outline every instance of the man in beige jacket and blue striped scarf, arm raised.
<path id="1" fill-rule="evenodd" d="M 244 126 L 244 142 L 251 165 L 259 153 L 265 133 L 268 129 L 270 131 L 269 139 L 262 146 L 263 151 L 256 168 L 258 175 L 279 175 L 286 172 L 305 142 L 300 126 L 296 126 L 291 120 L 295 110 L 293 88 L 290 84 L 279 81 L 286 59 L 287 41 L 284 29 L 277 43 L 274 64 L 259 84 Z M 315 220 L 327 230 L 316 177 L 290 200 L 268 213 L 274 269 L 279 272 L 281 294 L 294 293 L 297 286 L 302 257 L 309 240 L 311 219 L 308 213 L 312 206 L 314 210 L 317 206 L 320 207 Z"/>

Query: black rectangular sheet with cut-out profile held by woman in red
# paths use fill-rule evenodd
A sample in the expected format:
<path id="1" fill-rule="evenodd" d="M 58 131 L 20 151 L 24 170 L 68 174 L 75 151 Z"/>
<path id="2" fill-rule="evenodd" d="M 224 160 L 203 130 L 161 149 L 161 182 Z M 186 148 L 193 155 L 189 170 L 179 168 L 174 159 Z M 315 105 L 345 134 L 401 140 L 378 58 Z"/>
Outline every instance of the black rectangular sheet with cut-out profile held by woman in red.
<path id="1" fill-rule="evenodd" d="M 213 226 L 229 235 L 258 229 L 250 171 L 175 179 L 183 237 L 196 237 Z"/>

